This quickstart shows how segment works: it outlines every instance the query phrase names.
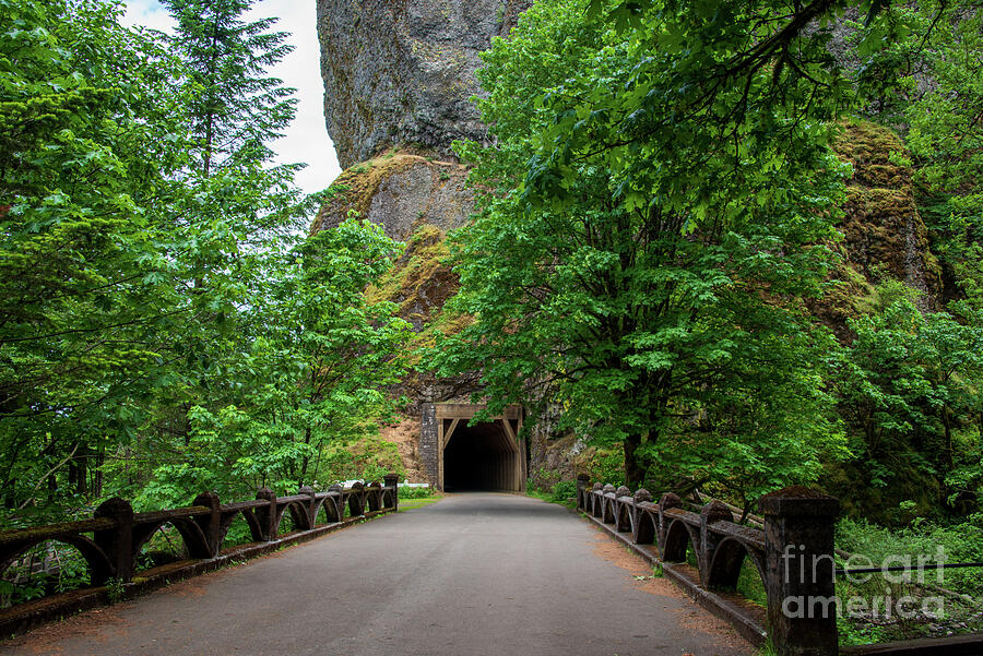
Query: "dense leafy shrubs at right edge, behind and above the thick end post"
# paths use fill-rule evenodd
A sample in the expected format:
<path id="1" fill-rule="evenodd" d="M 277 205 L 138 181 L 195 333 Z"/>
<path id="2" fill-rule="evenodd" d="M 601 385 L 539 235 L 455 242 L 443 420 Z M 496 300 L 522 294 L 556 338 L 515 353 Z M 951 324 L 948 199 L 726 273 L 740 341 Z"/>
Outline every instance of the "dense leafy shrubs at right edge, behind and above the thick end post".
<path id="1" fill-rule="evenodd" d="M 841 491 L 848 506 L 886 522 L 899 517 L 875 509 L 908 500 L 922 515 L 946 505 L 964 512 L 983 492 L 981 324 L 901 299 L 849 325 L 856 338 L 840 370 L 840 412 L 863 482 Z"/>

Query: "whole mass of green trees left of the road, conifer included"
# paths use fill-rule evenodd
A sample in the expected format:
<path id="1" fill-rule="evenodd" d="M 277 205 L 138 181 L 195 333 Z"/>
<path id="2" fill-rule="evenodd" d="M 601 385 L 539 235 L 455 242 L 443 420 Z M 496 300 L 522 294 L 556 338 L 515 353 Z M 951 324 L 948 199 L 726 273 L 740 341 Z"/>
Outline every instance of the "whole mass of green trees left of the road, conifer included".
<path id="1" fill-rule="evenodd" d="M 245 0 L 0 1 L 0 497 L 4 522 L 312 481 L 384 415 L 407 325 L 363 290 L 399 254 L 272 166 L 289 51 Z M 330 193 L 330 192 L 325 192 Z M 36 514 L 37 516 L 33 516 Z"/>

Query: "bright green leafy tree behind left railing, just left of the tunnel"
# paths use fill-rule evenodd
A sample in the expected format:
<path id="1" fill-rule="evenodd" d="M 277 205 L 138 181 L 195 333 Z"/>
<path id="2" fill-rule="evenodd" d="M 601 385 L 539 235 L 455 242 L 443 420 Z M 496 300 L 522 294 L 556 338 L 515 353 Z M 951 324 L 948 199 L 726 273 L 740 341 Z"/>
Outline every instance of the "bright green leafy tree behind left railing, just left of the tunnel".
<path id="1" fill-rule="evenodd" d="M 350 219 L 282 259 L 248 311 L 261 329 L 225 368 L 237 391 L 190 408 L 187 443 L 157 466 L 138 504 L 181 503 L 196 489 L 234 498 L 325 481 L 329 445 L 371 430 L 367 418 L 386 415 L 386 386 L 405 368 L 394 354 L 410 324 L 392 303 L 364 296 L 398 252 L 381 227 Z"/>

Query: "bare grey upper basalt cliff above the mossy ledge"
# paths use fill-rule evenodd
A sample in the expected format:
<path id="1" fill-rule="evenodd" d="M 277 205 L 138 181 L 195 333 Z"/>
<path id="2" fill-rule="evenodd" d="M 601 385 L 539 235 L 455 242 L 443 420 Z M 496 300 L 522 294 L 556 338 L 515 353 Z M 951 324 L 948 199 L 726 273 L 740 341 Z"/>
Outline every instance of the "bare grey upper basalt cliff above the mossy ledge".
<path id="1" fill-rule="evenodd" d="M 478 53 L 530 0 L 318 0 L 324 118 L 348 168 L 394 145 L 483 141 Z"/>

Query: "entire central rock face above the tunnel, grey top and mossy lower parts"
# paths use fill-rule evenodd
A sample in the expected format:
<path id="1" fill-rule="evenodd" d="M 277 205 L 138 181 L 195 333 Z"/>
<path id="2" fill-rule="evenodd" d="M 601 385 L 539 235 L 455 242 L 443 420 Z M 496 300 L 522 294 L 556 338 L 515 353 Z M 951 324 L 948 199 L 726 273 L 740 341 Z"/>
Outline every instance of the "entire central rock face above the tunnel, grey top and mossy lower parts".
<path id="1" fill-rule="evenodd" d="M 474 210 L 467 169 L 451 143 L 485 143 L 472 96 L 481 93 L 478 53 L 505 36 L 532 0 L 318 0 L 324 119 L 344 172 L 311 232 L 331 229 L 353 211 L 406 242 L 370 300 L 392 301 L 415 331 L 407 351 L 470 321 L 443 308 L 458 290 L 446 263 L 448 230 Z M 411 372 L 392 390 L 410 399 L 400 426 L 418 426 L 423 404 L 469 401 L 469 377 Z M 390 427 L 392 428 L 392 427 Z M 404 457 L 422 470 L 418 455 Z M 413 461 L 413 462 L 410 462 Z"/>

